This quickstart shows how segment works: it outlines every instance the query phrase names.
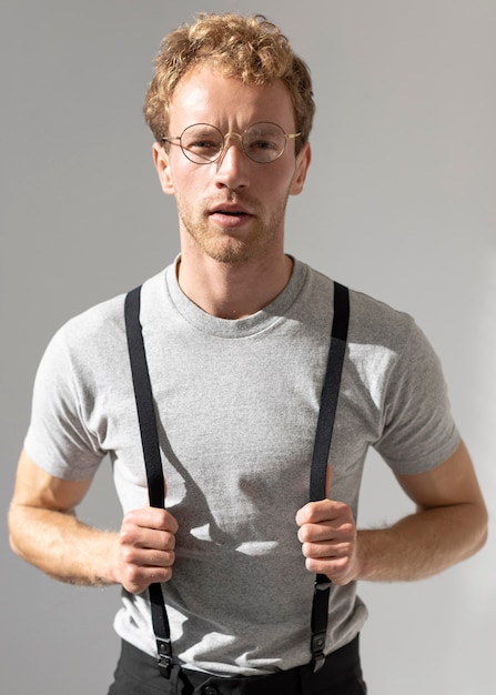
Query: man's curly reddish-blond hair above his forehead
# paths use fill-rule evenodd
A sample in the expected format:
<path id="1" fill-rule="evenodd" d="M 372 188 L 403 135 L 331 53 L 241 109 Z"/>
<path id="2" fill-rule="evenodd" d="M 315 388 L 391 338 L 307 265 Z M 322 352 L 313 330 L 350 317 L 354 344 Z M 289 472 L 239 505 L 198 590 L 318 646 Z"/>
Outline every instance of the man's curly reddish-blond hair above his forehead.
<path id="1" fill-rule="evenodd" d="M 155 73 L 146 92 L 144 118 L 156 141 L 168 134 L 174 89 L 189 70 L 207 63 L 247 84 L 281 80 L 294 108 L 298 151 L 307 141 L 315 104 L 310 70 L 281 30 L 263 14 L 198 14 L 166 36 L 154 60 Z"/>

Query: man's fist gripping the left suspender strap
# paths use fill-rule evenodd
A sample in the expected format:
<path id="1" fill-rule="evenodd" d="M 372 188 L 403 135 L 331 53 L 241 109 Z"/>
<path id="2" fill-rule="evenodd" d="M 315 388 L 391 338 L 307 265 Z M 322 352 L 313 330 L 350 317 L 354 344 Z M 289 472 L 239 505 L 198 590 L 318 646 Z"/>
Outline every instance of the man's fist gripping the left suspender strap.
<path id="1" fill-rule="evenodd" d="M 169 582 L 175 560 L 178 522 L 166 510 L 144 507 L 125 514 L 119 534 L 117 580 L 132 594 Z"/>

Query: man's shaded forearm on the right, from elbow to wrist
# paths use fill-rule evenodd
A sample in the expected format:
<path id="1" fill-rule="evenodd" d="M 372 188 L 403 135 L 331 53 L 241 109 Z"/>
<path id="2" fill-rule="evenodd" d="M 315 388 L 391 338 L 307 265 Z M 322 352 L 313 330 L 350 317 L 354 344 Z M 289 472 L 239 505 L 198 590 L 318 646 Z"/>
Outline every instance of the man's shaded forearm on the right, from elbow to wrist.
<path id="1" fill-rule="evenodd" d="M 476 553 L 487 517 L 476 504 L 419 511 L 393 526 L 357 532 L 357 580 L 408 582 L 443 572 Z"/>

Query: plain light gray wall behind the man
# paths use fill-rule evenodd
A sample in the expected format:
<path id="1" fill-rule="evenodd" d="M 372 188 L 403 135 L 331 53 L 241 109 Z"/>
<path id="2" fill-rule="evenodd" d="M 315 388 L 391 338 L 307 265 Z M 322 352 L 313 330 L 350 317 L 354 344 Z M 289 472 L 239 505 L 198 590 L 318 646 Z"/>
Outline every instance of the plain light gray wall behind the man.
<path id="1" fill-rule="evenodd" d="M 141 117 L 152 56 L 194 12 L 232 9 L 276 21 L 313 72 L 314 160 L 291 201 L 287 250 L 416 316 L 443 359 L 494 514 L 494 0 L 2 0 L 3 518 L 47 341 L 178 251 Z M 363 524 L 411 508 L 374 456 L 362 496 Z M 119 526 L 107 467 L 81 514 Z M 0 543 L 1 692 L 105 693 L 117 588 L 42 576 L 9 552 L 3 522 Z M 494 693 L 495 570 L 492 536 L 433 580 L 362 585 L 370 692 Z"/>

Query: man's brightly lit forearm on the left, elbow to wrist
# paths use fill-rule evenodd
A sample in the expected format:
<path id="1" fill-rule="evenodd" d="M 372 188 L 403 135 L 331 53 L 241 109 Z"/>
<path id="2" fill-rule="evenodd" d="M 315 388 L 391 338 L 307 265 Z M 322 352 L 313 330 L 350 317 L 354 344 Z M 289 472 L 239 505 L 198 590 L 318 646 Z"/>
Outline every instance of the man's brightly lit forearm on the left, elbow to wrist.
<path id="1" fill-rule="evenodd" d="M 61 582 L 115 583 L 118 534 L 87 526 L 70 513 L 12 505 L 10 543 L 20 557 Z"/>

